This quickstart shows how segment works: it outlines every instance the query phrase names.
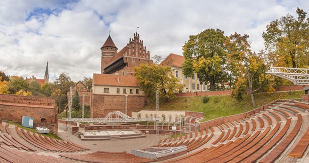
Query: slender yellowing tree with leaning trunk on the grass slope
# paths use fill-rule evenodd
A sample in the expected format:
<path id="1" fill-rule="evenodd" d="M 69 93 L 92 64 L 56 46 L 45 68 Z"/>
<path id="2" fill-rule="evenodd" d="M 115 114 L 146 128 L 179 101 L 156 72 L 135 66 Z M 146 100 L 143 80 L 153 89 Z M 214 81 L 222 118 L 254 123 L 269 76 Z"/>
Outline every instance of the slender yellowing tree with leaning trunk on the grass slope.
<path id="1" fill-rule="evenodd" d="M 240 71 L 240 76 L 232 88 L 232 96 L 240 100 L 245 90 L 248 89 L 252 104 L 256 106 L 253 93 L 262 87 L 262 81 L 265 80 L 266 66 L 262 56 L 263 53 L 256 54 L 252 52 L 250 42 L 247 40 L 248 38 L 249 35 L 247 34 L 242 36 L 235 32 L 226 42 L 230 53 L 230 61 L 236 63 L 236 69 Z M 244 84 L 246 84 L 246 88 Z"/>

